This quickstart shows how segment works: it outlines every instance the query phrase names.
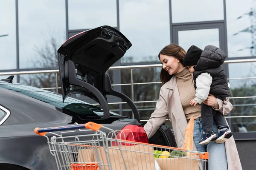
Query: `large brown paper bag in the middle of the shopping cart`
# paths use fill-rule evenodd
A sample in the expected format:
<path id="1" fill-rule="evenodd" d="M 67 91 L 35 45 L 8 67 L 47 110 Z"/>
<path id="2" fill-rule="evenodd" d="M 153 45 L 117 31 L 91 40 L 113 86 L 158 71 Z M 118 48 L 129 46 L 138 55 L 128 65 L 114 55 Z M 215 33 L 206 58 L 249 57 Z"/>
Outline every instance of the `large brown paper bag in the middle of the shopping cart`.
<path id="1" fill-rule="evenodd" d="M 122 151 L 122 153 L 121 153 Z M 98 148 L 94 159 L 102 170 L 155 170 L 154 148 L 151 146 L 134 145 Z"/>

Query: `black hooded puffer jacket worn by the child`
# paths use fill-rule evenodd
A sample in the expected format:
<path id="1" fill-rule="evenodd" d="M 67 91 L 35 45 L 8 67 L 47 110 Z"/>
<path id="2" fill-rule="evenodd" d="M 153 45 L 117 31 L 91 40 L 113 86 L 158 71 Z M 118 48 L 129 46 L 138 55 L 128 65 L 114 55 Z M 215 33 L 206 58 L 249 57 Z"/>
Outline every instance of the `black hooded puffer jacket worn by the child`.
<path id="1" fill-rule="evenodd" d="M 207 45 L 204 48 L 204 51 L 195 66 L 195 72 L 193 73 L 194 82 L 200 74 L 209 73 L 212 77 L 212 85 L 209 93 L 221 100 L 226 100 L 226 97 L 230 95 L 227 77 L 221 66 L 226 57 L 227 55 L 223 50 L 213 45 Z"/>

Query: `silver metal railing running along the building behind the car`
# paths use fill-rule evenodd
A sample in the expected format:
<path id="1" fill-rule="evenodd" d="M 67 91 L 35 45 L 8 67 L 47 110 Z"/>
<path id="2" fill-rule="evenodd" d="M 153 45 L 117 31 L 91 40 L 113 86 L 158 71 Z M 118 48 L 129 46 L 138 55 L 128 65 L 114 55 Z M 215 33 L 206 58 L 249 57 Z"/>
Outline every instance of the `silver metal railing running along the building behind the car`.
<path id="1" fill-rule="evenodd" d="M 224 61 L 225 64 L 232 64 L 232 63 L 244 63 L 244 62 L 256 62 L 256 59 L 232 59 L 232 60 L 226 60 Z M 133 69 L 141 69 L 141 68 L 159 68 L 162 67 L 161 64 L 151 64 L 151 65 L 127 65 L 127 66 L 113 66 L 110 67 L 109 70 L 127 70 L 129 69 L 131 71 L 131 83 L 125 83 L 125 84 L 113 84 L 112 86 L 122 86 L 122 85 L 131 85 L 131 100 L 134 103 L 147 103 L 147 102 L 157 102 L 157 100 L 152 101 L 134 101 L 134 85 L 145 85 L 145 84 L 160 84 L 162 82 L 141 82 L 141 83 L 134 83 L 133 80 Z M 0 76 L 4 75 L 22 75 L 22 74 L 49 74 L 49 73 L 55 73 L 56 77 L 56 86 L 55 87 L 49 87 L 49 88 L 42 88 L 42 89 L 56 89 L 56 92 L 58 93 L 58 89 L 61 87 L 58 87 L 58 77 L 57 74 L 59 73 L 58 69 L 55 70 L 42 70 L 42 71 L 12 71 L 12 72 L 1 72 Z M 256 77 L 242 77 L 242 78 L 229 78 L 229 80 L 235 80 L 235 79 L 256 79 Z M 230 97 L 230 99 L 243 99 L 243 98 L 256 98 L 256 96 L 243 96 L 243 97 Z M 112 102 L 108 103 L 111 104 L 125 104 L 125 102 Z M 95 103 L 94 105 L 99 105 Z M 234 117 L 234 116 L 231 116 Z M 237 116 L 236 116 L 237 117 Z M 241 117 L 241 116 L 240 116 Z M 244 117 L 244 116 L 242 116 Z M 246 116 L 251 117 L 251 116 Z M 256 116 L 252 116 L 256 117 Z"/>

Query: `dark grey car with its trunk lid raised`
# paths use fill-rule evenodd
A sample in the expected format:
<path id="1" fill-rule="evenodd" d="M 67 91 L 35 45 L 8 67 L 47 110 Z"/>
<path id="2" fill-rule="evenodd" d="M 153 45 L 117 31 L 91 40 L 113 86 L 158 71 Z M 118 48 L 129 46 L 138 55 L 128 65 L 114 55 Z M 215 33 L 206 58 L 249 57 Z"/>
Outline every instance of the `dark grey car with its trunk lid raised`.
<path id="1" fill-rule="evenodd" d="M 14 76 L 2 79 L 0 169 L 57 169 L 47 139 L 35 134 L 35 127 L 96 122 L 113 130 L 129 129 L 130 132 L 125 133 L 125 140 L 133 140 L 131 138 L 134 136 L 137 142 L 175 146 L 173 134 L 171 139 L 165 134 L 168 127 L 165 130 L 160 128 L 155 136 L 148 139 L 134 102 L 111 87 L 106 71 L 130 47 L 131 42 L 110 26 L 83 31 L 68 39 L 58 49 L 62 94 L 14 83 Z M 71 94 L 85 95 L 101 107 L 72 98 Z M 127 102 L 134 119 L 109 111 L 107 95 L 117 96 Z M 79 134 L 81 131 L 74 132 L 74 135 Z M 51 134 L 47 136 L 50 138 Z"/>

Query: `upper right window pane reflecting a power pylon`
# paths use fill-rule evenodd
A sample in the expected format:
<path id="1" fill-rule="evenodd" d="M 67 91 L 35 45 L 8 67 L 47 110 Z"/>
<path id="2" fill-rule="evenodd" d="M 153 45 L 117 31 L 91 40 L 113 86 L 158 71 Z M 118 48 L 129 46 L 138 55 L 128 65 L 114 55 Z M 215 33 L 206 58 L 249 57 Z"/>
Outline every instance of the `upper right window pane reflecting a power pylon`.
<path id="1" fill-rule="evenodd" d="M 256 56 L 256 3 L 226 0 L 226 8 L 228 57 Z"/>

